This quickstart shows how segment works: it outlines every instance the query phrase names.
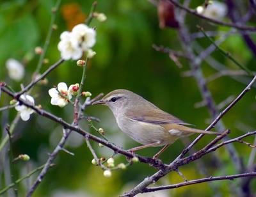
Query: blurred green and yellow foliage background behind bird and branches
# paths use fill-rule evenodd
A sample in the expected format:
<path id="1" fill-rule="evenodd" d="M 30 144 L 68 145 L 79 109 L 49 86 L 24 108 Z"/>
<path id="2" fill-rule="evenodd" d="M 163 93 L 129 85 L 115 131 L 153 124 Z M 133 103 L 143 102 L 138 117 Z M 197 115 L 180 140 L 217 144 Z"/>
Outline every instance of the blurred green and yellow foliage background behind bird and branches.
<path id="1" fill-rule="evenodd" d="M 26 86 L 31 81 L 31 75 L 35 71 L 39 58 L 34 52 L 35 47 L 43 47 L 44 45 L 51 20 L 51 8 L 55 3 L 56 1 L 52 0 L 0 1 L 0 80 L 6 81 L 15 91 L 20 90 L 20 83 Z M 74 25 L 84 22 L 88 17 L 92 3 L 93 1 L 90 0 L 61 1 L 55 22 L 58 29 L 53 31 L 49 49 L 46 53 L 49 63 L 43 65 L 41 73 L 60 59 L 60 52 L 57 49 L 60 34 L 65 30 L 71 30 Z M 196 8 L 202 3 L 204 1 L 193 1 L 191 8 Z M 246 13 L 248 6 L 244 1 L 241 12 Z M 92 27 L 97 29 L 97 43 L 93 47 L 97 54 L 89 62 L 84 91 L 90 91 L 93 96 L 96 96 L 101 92 L 106 94 L 118 88 L 128 89 L 143 96 L 164 111 L 174 114 L 185 122 L 196 125 L 196 128 L 205 129 L 212 118 L 206 107 L 195 107 L 196 103 L 202 101 L 202 96 L 195 79 L 184 77 L 184 72 L 189 70 L 189 62 L 180 58 L 182 68 L 178 68 L 168 54 L 157 52 L 152 47 L 153 44 L 164 45 L 173 50 L 181 51 L 177 29 L 160 29 L 157 9 L 147 0 L 99 0 L 97 12 L 105 13 L 108 19 L 104 22 L 93 20 L 91 24 Z M 228 21 L 228 19 L 224 20 Z M 255 19 L 252 19 L 252 24 L 253 20 L 255 22 Z M 198 31 L 196 29 L 197 24 L 203 26 L 207 31 L 223 33 L 228 30 L 225 27 L 212 26 L 191 15 L 186 20 L 186 24 L 188 24 L 192 33 Z M 221 33 L 216 36 L 216 39 L 220 38 Z M 252 34 L 252 38 L 255 38 L 255 35 Z M 211 44 L 205 38 L 198 38 L 194 43 L 201 47 L 207 47 Z M 243 65 L 255 70 L 255 56 L 239 34 L 228 36 L 221 47 L 230 52 Z M 26 74 L 22 81 L 16 82 L 9 78 L 6 69 L 6 60 L 9 58 L 17 59 L 25 66 Z M 225 65 L 226 68 L 237 69 L 232 62 L 218 51 L 212 53 L 212 58 Z M 205 77 L 216 73 L 216 70 L 209 66 L 206 61 L 201 66 Z M 77 67 L 76 61 L 66 61 L 60 65 L 47 76 L 48 84 L 38 84 L 31 92 L 36 105 L 40 104 L 45 110 L 72 122 L 72 106 L 68 105 L 63 108 L 51 106 L 51 97 L 48 95 L 48 90 L 60 82 L 65 82 L 68 86 L 80 83 L 81 74 L 81 67 Z M 217 104 L 232 95 L 235 97 L 246 86 L 248 78 L 241 76 L 235 76 L 234 78 L 236 79 L 225 76 L 208 83 L 209 90 Z M 255 94 L 256 91 L 253 87 L 252 91 L 223 118 L 225 127 L 232 130 L 230 137 L 234 138 L 255 128 Z M 8 105 L 10 100 L 10 97 L 2 93 L 1 106 Z M 16 114 L 15 109 L 0 113 L 2 129 L 0 137 L 2 139 L 6 135 L 3 129 L 4 125 L 11 123 Z M 95 123 L 95 125 L 106 130 L 106 138 L 109 141 L 125 149 L 138 146 L 138 143 L 120 132 L 113 114 L 107 107 L 90 106 L 86 109 L 86 114 L 100 118 L 100 123 Z M 97 135 L 93 129 L 88 127 L 85 120 L 81 123 L 81 127 Z M 13 134 L 13 155 L 17 157 L 19 154 L 28 154 L 31 159 L 28 162 L 15 162 L 17 177 L 22 177 L 31 169 L 44 164 L 48 154 L 54 150 L 54 147 L 60 141 L 61 135 L 62 129 L 58 124 L 37 114 L 33 114 L 28 122 L 19 120 Z M 193 135 L 185 143 L 189 143 L 195 138 L 196 135 Z M 202 148 L 211 139 L 211 136 L 205 136 L 195 148 Z M 254 137 L 251 136 L 246 141 L 253 143 L 253 139 Z M 92 145 L 97 154 L 102 157 L 109 157 L 113 154 L 106 147 L 100 148 L 97 143 L 92 142 Z M 243 144 L 236 143 L 234 145 L 246 164 L 252 148 Z M 7 146 L 1 152 L 0 158 L 1 188 L 7 182 Z M 74 156 L 61 152 L 56 157 L 54 161 L 56 166 L 49 170 L 49 173 L 36 190 L 35 196 L 118 196 L 118 194 L 122 194 L 141 182 L 143 178 L 156 172 L 154 168 L 150 168 L 147 164 L 136 163 L 126 170 L 113 171 L 113 176 L 106 178 L 102 175 L 102 169 L 92 165 L 92 154 L 81 136 L 72 133 L 65 148 L 73 152 Z M 179 155 L 183 148 L 184 142 L 179 140 L 170 146 L 161 155 L 160 159 L 164 162 L 170 162 Z M 158 150 L 159 148 L 147 148 L 139 153 L 152 157 Z M 221 169 L 216 168 L 209 155 L 201 159 L 212 176 L 236 173 L 225 148 L 218 150 L 217 155 L 223 162 Z M 118 155 L 115 157 L 115 162 L 126 162 L 126 159 L 122 155 Z M 204 177 L 204 175 L 198 173 L 197 167 L 196 162 L 193 162 L 180 168 L 180 171 L 189 180 Z M 26 194 L 28 185 L 33 183 L 36 175 L 19 184 L 20 196 Z M 158 184 L 175 184 L 182 181 L 177 173 L 172 172 L 160 180 Z M 238 183 L 238 180 L 232 182 L 233 185 Z M 214 182 L 212 185 L 218 187 L 221 196 L 230 196 L 230 187 L 226 181 Z M 252 185 L 254 185 L 252 189 L 255 192 L 256 182 L 253 181 Z M 154 195 L 213 196 L 214 193 L 214 189 L 209 184 L 204 183 L 154 193 Z M 4 195 L 8 196 L 8 193 Z M 9 193 L 10 195 L 12 194 Z M 145 194 L 145 196 L 150 196 L 150 194 Z"/>

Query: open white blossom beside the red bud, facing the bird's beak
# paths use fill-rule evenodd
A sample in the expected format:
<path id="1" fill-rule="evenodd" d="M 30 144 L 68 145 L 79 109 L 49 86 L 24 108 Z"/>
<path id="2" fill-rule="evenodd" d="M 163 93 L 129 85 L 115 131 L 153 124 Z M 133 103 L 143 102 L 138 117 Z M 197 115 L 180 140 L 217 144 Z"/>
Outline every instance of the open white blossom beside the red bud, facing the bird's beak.
<path id="1" fill-rule="evenodd" d="M 48 93 L 52 97 L 51 104 L 54 106 L 64 107 L 68 104 L 68 100 L 72 98 L 67 84 L 63 82 L 58 84 L 57 90 L 56 88 L 51 88 Z"/>

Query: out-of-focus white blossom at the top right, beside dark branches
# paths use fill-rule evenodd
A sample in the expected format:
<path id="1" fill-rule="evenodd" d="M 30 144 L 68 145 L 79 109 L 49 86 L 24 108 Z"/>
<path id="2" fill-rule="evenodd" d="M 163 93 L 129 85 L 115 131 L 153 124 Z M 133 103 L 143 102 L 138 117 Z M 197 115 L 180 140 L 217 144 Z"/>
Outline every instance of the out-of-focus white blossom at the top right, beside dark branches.
<path id="1" fill-rule="evenodd" d="M 205 17 L 221 20 L 227 14 L 227 5 L 219 1 L 212 1 L 212 4 L 209 4 L 204 11 L 202 9 L 199 9 L 199 11 Z"/>

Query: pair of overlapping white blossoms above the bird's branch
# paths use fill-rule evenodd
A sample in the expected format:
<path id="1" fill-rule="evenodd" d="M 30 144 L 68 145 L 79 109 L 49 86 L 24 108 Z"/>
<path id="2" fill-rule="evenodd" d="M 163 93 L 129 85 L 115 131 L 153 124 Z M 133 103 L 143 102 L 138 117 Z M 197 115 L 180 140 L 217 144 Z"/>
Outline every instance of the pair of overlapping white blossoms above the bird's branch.
<path id="1" fill-rule="evenodd" d="M 95 42 L 95 29 L 89 28 L 85 24 L 78 24 L 74 26 L 72 31 L 61 33 L 58 49 L 61 52 L 61 58 L 65 60 L 79 59 L 83 52 L 90 54 L 89 58 L 92 58 L 95 52 L 91 48 L 95 45 Z"/>

